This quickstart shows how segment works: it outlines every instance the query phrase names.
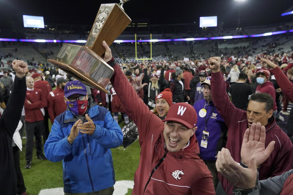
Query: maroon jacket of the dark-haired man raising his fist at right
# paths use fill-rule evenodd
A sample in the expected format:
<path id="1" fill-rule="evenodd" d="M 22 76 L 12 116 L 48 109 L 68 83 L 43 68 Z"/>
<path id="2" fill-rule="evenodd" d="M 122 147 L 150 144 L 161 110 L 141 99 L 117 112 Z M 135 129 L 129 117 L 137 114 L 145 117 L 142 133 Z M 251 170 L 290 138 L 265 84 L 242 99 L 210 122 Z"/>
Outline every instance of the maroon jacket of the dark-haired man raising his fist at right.
<path id="1" fill-rule="evenodd" d="M 211 88 L 214 105 L 217 107 L 228 127 L 228 139 L 226 148 L 229 149 L 233 159 L 240 163 L 240 150 L 243 135 L 248 128 L 246 111 L 236 108 L 226 93 L 226 84 L 221 72 L 212 73 Z M 270 157 L 260 166 L 259 180 L 281 175 L 292 169 L 293 145 L 289 137 L 276 124 L 274 117 L 269 119 L 265 126 L 265 147 L 271 141 L 275 141 L 275 148 Z M 233 195 L 233 186 L 219 174 L 219 180 L 227 195 Z"/>

